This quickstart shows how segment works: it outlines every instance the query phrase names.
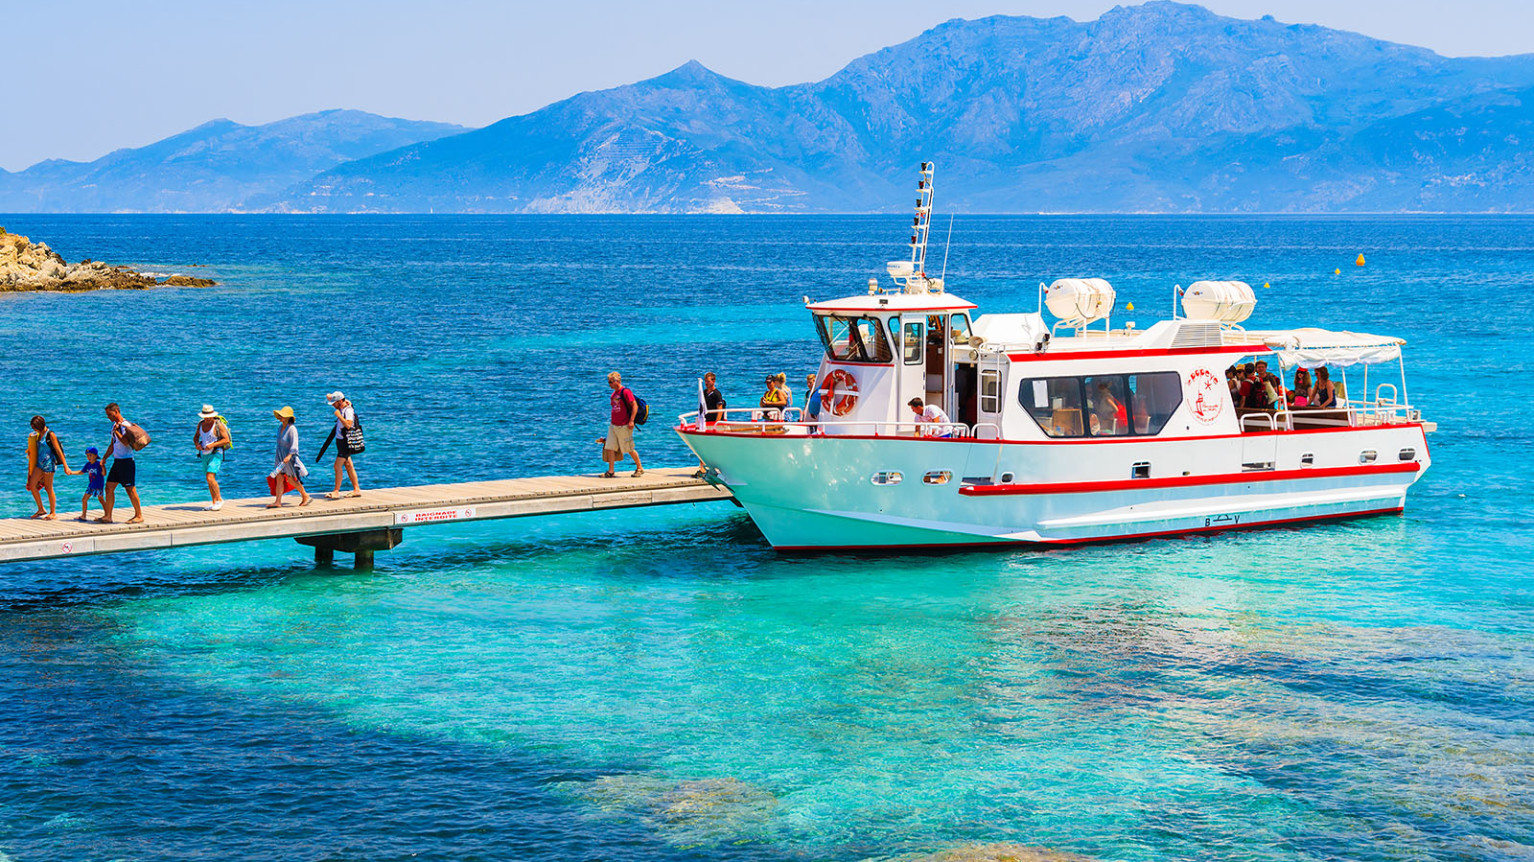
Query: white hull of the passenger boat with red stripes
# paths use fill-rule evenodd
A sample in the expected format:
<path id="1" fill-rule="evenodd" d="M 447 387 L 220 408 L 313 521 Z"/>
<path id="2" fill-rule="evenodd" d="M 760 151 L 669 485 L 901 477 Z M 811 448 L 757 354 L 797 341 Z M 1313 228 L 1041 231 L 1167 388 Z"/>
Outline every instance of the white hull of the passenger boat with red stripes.
<path id="1" fill-rule="evenodd" d="M 1419 425 L 1197 448 L 678 433 L 782 551 L 1078 545 L 1399 512 L 1428 466 Z M 1244 468 L 1258 437 L 1262 468 Z"/>

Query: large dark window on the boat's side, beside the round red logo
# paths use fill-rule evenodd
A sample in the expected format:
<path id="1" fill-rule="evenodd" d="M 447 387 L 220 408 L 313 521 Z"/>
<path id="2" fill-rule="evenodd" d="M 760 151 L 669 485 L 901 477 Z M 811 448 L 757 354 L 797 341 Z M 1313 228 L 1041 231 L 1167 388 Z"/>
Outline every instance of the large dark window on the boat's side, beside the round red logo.
<path id="1" fill-rule="evenodd" d="M 1023 380 L 1017 400 L 1051 437 L 1150 437 L 1183 403 L 1177 371 Z"/>

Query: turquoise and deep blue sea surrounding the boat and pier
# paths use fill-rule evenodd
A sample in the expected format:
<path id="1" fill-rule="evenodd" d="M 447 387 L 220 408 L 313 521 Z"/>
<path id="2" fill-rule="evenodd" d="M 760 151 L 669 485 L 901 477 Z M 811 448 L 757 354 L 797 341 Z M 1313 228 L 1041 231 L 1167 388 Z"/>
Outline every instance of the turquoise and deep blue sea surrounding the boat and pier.
<path id="1" fill-rule="evenodd" d="M 371 486 L 597 471 L 609 370 L 653 405 L 646 463 L 684 465 L 693 380 L 802 380 L 801 298 L 907 236 L 0 224 L 222 282 L 0 294 L 11 515 L 28 419 L 74 462 L 107 400 L 155 433 L 146 502 L 202 494 L 204 402 L 256 495 L 270 411 L 311 454 L 336 388 Z M 1235 278 L 1270 285 L 1252 325 L 1404 336 L 1433 468 L 1402 517 L 1060 552 L 778 555 L 712 505 L 419 528 L 368 574 L 291 541 L 0 566 L 0 862 L 1534 857 L 1534 218 L 960 216 L 946 276 L 982 311 L 1104 276 L 1141 328 Z"/>

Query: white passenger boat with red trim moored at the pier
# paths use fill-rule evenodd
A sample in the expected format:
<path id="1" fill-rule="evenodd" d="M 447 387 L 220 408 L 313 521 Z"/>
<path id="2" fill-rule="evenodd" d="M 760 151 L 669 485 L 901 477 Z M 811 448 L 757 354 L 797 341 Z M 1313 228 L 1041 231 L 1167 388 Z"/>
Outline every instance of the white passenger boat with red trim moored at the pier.
<path id="1" fill-rule="evenodd" d="M 807 301 L 825 347 L 807 405 L 676 426 L 775 548 L 1074 545 L 1399 512 L 1428 468 L 1433 423 L 1407 402 L 1401 339 L 1243 328 L 1256 301 L 1241 282 L 1174 288 L 1172 319 L 1143 330 L 1112 327 L 1103 279 L 976 316 L 927 276 L 931 202 L 923 163 L 893 284 Z M 1238 406 L 1226 370 L 1255 360 L 1332 368 L 1336 405 Z M 1379 364 L 1393 380 L 1376 371 L 1370 393 Z M 913 397 L 951 422 L 913 422 Z"/>

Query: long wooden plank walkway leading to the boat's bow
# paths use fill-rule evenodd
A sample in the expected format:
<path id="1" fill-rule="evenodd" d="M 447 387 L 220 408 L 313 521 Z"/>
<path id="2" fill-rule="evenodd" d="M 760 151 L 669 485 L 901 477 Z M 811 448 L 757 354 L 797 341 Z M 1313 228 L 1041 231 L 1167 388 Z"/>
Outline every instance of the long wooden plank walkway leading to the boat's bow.
<path id="1" fill-rule="evenodd" d="M 133 517 L 133 508 L 127 495 L 118 491 L 118 506 L 112 512 L 117 523 L 112 525 L 72 520 L 75 517 L 72 511 L 61 512 L 57 521 L 0 518 L 0 561 L 121 554 L 261 538 L 385 532 L 431 523 L 704 503 L 730 497 L 727 489 L 693 479 L 692 472 L 693 468 L 661 468 L 646 469 L 638 479 L 620 472 L 617 479 L 603 479 L 598 474 L 549 475 L 379 488 L 364 489 L 359 498 L 325 500 L 316 495 L 314 502 L 302 509 L 298 508 L 296 494 L 287 495 L 285 500 L 290 502 L 282 509 L 267 509 L 270 497 L 225 500 L 224 508 L 216 512 L 202 511 L 206 502 L 173 503 L 144 506 L 141 525 L 123 523 Z M 100 509 L 92 503 L 91 517 L 98 515 Z"/>

